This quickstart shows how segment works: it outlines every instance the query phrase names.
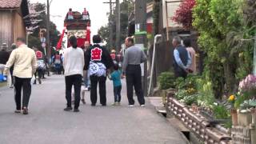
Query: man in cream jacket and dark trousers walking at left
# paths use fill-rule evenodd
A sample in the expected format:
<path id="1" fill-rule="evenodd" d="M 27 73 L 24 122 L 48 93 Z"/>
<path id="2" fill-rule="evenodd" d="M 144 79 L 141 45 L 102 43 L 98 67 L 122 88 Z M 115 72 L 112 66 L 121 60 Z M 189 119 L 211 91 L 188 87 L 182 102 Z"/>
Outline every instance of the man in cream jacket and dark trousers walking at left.
<path id="1" fill-rule="evenodd" d="M 14 88 L 15 88 L 15 113 L 28 114 L 28 105 L 30 101 L 32 75 L 37 70 L 37 58 L 34 50 L 25 45 L 25 38 L 17 38 L 18 48 L 13 50 L 6 63 L 4 74 L 6 75 L 11 66 L 14 66 Z M 22 91 L 23 90 L 23 91 Z M 22 107 L 21 107 L 21 96 Z"/>

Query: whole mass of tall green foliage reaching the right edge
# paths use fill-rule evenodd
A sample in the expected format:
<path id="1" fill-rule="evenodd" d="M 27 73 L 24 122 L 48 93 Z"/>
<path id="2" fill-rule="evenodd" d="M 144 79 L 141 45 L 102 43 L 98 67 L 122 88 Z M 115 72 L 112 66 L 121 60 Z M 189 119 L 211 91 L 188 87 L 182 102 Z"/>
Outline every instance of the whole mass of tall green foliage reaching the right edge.
<path id="1" fill-rule="evenodd" d="M 193 26 L 206 53 L 204 74 L 216 98 L 232 94 L 252 71 L 256 0 L 196 0 Z"/>

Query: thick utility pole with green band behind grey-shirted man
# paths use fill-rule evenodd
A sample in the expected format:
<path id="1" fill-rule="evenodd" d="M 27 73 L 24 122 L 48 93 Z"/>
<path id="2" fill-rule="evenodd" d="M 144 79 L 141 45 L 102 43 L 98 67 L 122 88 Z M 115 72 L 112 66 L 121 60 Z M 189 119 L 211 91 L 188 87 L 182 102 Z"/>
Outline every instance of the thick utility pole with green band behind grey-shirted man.
<path id="1" fill-rule="evenodd" d="M 145 50 L 146 47 L 146 0 L 135 1 L 135 43 L 142 46 Z M 143 70 L 143 69 L 142 69 Z M 147 62 L 144 62 L 144 75 L 143 75 L 143 91 L 147 96 Z"/>

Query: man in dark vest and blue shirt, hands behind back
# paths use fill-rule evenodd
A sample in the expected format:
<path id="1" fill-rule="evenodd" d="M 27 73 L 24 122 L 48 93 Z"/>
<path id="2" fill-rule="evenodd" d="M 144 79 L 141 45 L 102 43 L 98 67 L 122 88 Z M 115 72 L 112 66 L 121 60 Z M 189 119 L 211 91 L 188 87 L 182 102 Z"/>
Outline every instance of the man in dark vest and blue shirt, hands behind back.
<path id="1" fill-rule="evenodd" d="M 190 72 L 189 67 L 191 65 L 190 53 L 182 46 L 182 39 L 179 37 L 174 37 L 174 74 L 175 77 L 186 78 L 187 74 Z"/>

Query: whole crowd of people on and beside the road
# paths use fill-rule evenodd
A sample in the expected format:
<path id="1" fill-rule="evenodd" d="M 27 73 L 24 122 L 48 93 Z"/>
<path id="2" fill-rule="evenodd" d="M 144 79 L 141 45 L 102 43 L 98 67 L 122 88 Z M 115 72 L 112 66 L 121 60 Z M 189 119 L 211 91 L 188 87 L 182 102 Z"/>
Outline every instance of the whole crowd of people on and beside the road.
<path id="1" fill-rule="evenodd" d="M 114 103 L 113 106 L 121 105 L 122 78 L 126 78 L 126 89 L 128 106 L 134 106 L 134 90 L 138 98 L 138 104 L 145 106 L 145 98 L 142 90 L 142 70 L 141 63 L 146 62 L 146 54 L 142 49 L 134 46 L 133 38 L 126 38 L 126 50 L 120 62 L 116 62 L 111 54 L 100 43 L 102 39 L 99 35 L 94 35 L 93 45 L 85 42 L 84 49 L 78 47 L 77 38 L 71 36 L 68 39 L 70 47 L 64 50 L 63 54 L 56 53 L 51 62 L 54 66 L 55 74 L 65 75 L 66 83 L 66 108 L 65 111 L 79 112 L 79 105 L 82 101 L 86 104 L 85 91 L 90 90 L 90 105 L 96 106 L 98 100 L 102 106 L 106 106 L 106 80 L 113 81 Z M 15 90 L 15 113 L 28 114 L 28 106 L 31 94 L 31 78 L 38 77 L 39 84 L 44 77 L 49 62 L 42 51 L 37 48 L 30 49 L 26 46 L 24 38 L 17 38 L 16 44 L 12 45 L 11 52 L 6 51 L 6 46 L 2 46 L 0 52 L 0 72 L 13 79 Z M 183 43 L 183 45 L 182 45 Z M 190 39 L 175 37 L 174 46 L 174 73 L 176 77 L 186 78 L 189 73 L 195 72 L 195 53 L 190 46 Z M 17 47 L 17 48 L 16 48 Z M 10 76 L 13 75 L 13 76 Z M 36 79 L 34 80 L 36 84 Z M 74 87 L 74 89 L 73 89 Z M 22 93 L 23 90 L 23 93 Z M 23 94 L 23 96 L 22 96 Z M 22 102 L 21 102 L 21 98 Z M 73 100 L 72 100 L 73 99 Z M 72 106 L 74 103 L 74 107 Z"/>

